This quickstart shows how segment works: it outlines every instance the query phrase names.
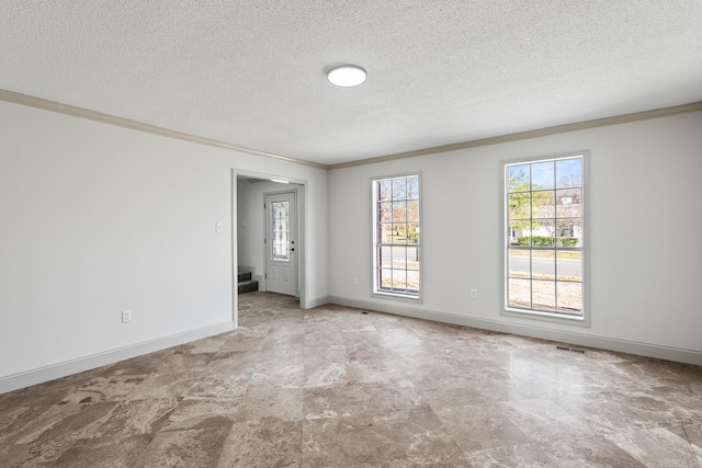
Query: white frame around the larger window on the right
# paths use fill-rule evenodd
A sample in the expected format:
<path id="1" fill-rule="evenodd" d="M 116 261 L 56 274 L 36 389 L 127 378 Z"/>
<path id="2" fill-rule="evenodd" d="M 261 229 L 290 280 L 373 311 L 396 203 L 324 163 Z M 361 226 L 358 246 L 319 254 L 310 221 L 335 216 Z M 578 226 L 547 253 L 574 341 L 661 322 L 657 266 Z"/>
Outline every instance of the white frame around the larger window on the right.
<path id="1" fill-rule="evenodd" d="M 582 203 L 582 226 L 581 226 L 581 241 L 580 241 L 580 251 L 581 251 L 581 281 L 582 281 L 582 292 L 581 292 L 581 300 L 582 300 L 582 310 L 579 316 L 570 316 L 563 312 L 552 312 L 544 311 L 534 308 L 514 308 L 509 307 L 508 299 L 508 281 L 509 281 L 509 266 L 508 266 L 508 251 L 509 251 L 509 225 L 508 225 L 508 173 L 507 168 L 514 164 L 532 164 L 544 161 L 559 160 L 559 159 L 568 159 L 568 158 L 581 158 L 581 169 L 582 169 L 582 194 L 581 194 L 581 203 Z M 574 151 L 568 153 L 559 153 L 552 156 L 541 156 L 541 157 L 526 157 L 519 159 L 511 159 L 500 161 L 499 163 L 499 187 L 500 187 L 500 259 L 501 259 L 501 307 L 500 313 L 502 316 L 509 317 L 519 317 L 526 318 L 533 320 L 541 320 L 547 322 L 555 323 L 566 323 L 570 326 L 578 327 L 590 327 L 590 309 L 589 309 L 589 289 L 590 289 L 590 261 L 589 261 L 589 243 L 590 243 L 590 203 L 589 203 L 589 158 L 590 153 L 587 150 L 584 151 Z M 530 215 L 531 216 L 531 215 Z M 533 249 L 533 246 L 532 246 Z M 556 249 L 557 251 L 557 249 Z"/>

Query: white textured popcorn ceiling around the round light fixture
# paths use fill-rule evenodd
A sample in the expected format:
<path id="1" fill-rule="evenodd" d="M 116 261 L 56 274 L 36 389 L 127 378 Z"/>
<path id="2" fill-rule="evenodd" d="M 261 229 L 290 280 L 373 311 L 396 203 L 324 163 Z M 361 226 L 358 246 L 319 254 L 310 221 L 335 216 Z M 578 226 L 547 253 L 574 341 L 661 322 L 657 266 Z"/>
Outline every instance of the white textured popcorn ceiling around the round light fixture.
<path id="1" fill-rule="evenodd" d="M 0 89 L 335 164 L 702 101 L 702 1 L 3 0 Z"/>

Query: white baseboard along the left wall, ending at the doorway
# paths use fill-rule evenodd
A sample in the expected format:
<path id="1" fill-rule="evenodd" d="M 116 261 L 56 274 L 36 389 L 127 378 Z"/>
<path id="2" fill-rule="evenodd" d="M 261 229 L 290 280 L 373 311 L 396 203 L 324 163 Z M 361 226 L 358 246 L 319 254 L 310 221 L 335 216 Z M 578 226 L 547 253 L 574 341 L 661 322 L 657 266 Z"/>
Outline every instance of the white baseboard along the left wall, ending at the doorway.
<path id="1" fill-rule="evenodd" d="M 227 320 L 222 323 L 203 327 L 196 330 L 189 330 L 182 333 L 176 333 L 156 340 L 149 340 L 141 343 L 133 344 L 117 350 L 106 351 L 104 353 L 93 354 L 91 356 L 79 357 L 77 359 L 67 361 L 20 374 L 13 374 L 0 378 L 0 395 L 20 388 L 30 387 L 32 385 L 42 384 L 84 370 L 94 369 L 95 367 L 114 364 L 120 361 L 129 359 L 132 357 L 141 356 L 155 351 L 166 350 L 167 347 L 178 346 L 180 344 L 190 343 L 191 341 L 201 340 L 203 338 L 213 336 L 215 334 L 225 333 L 234 330 L 234 321 Z"/>

